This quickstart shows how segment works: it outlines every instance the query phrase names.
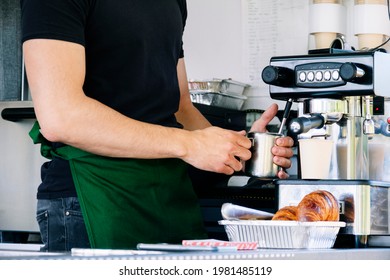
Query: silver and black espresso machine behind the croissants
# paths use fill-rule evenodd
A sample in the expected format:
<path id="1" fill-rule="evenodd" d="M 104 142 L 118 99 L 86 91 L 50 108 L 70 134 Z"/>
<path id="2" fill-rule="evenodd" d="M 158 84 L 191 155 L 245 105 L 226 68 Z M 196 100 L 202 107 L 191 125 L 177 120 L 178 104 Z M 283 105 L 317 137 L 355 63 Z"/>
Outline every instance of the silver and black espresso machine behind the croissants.
<path id="1" fill-rule="evenodd" d="M 298 179 L 276 180 L 277 208 L 330 191 L 346 222 L 338 240 L 348 246 L 390 246 L 389 73 L 386 52 L 334 49 L 272 57 L 262 72 L 271 98 L 297 103 L 290 135 L 333 141 L 328 178 L 300 179 L 298 171 Z"/>

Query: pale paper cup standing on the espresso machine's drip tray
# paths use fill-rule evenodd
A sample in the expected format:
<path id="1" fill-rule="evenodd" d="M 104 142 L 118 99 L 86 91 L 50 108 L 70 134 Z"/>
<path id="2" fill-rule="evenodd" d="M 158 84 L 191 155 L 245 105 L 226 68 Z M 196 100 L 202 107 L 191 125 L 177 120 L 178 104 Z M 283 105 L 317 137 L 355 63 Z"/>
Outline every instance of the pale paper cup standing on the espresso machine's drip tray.
<path id="1" fill-rule="evenodd" d="M 302 179 L 329 179 L 333 141 L 299 139 L 299 159 Z"/>

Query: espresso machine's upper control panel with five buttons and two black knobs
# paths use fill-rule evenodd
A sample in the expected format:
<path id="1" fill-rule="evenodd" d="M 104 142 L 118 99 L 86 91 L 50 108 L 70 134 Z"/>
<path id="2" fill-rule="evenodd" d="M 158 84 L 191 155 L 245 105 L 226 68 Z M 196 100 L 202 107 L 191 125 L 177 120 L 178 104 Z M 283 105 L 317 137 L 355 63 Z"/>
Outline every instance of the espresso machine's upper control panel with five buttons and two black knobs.
<path id="1" fill-rule="evenodd" d="M 342 52 L 271 58 L 262 71 L 273 99 L 390 97 L 386 73 L 390 56 L 383 52 Z"/>

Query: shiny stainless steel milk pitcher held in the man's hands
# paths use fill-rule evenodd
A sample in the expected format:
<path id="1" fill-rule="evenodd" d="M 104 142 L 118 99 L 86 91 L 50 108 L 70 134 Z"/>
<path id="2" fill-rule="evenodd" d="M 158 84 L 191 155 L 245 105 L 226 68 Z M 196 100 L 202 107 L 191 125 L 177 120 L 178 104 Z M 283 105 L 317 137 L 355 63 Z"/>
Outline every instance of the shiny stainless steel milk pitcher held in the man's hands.
<path id="1" fill-rule="evenodd" d="M 274 178 L 279 167 L 273 163 L 271 149 L 275 146 L 275 140 L 281 137 L 279 133 L 250 132 L 248 138 L 252 141 L 252 157 L 244 162 L 244 172 L 248 176 Z"/>

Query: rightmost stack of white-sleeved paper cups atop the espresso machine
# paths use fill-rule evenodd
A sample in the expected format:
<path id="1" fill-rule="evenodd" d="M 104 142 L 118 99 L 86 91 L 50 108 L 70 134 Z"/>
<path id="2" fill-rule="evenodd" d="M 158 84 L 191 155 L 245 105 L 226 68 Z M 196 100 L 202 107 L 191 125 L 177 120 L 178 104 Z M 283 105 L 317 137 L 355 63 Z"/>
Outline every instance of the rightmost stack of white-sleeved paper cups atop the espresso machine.
<path id="1" fill-rule="evenodd" d="M 359 49 L 381 45 L 390 35 L 387 0 L 355 0 L 354 33 Z"/>

